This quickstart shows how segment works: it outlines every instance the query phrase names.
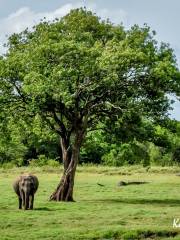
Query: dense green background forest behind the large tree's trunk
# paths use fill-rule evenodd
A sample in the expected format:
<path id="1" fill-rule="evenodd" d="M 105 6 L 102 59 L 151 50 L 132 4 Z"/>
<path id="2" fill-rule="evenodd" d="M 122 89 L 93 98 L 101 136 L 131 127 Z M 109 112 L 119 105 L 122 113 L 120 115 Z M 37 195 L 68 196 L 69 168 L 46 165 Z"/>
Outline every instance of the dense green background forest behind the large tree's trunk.
<path id="1" fill-rule="evenodd" d="M 5 114 L 5 113 L 4 113 Z M 58 166 L 62 163 L 58 136 L 36 117 L 28 124 L 2 116 L 0 161 L 4 167 Z M 80 164 L 109 166 L 142 164 L 170 166 L 180 163 L 180 123 L 166 119 L 152 123 L 135 113 L 124 116 L 116 126 L 88 133 Z M 113 134 L 112 134 L 113 133 Z"/>

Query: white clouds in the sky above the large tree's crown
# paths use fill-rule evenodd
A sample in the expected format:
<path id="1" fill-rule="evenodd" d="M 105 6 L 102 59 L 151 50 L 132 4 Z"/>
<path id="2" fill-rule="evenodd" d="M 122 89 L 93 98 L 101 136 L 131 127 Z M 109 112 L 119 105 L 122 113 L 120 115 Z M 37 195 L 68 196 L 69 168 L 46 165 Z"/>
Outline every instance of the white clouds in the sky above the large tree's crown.
<path id="1" fill-rule="evenodd" d="M 4 19 L 0 19 L 0 53 L 5 51 L 3 47 L 3 43 L 7 39 L 7 35 L 11 35 L 13 33 L 19 33 L 24 29 L 31 28 L 36 25 L 41 19 L 44 17 L 47 20 L 53 20 L 55 18 L 60 18 L 66 15 L 71 9 L 81 7 L 82 3 L 67 3 L 61 6 L 58 9 L 55 9 L 51 12 L 34 12 L 28 7 L 22 7 L 18 9 L 16 12 L 10 14 Z M 122 9 L 108 10 L 98 9 L 96 4 L 87 5 L 87 9 L 92 10 L 102 19 L 109 18 L 112 22 L 120 23 L 125 21 L 127 18 L 127 14 Z"/>

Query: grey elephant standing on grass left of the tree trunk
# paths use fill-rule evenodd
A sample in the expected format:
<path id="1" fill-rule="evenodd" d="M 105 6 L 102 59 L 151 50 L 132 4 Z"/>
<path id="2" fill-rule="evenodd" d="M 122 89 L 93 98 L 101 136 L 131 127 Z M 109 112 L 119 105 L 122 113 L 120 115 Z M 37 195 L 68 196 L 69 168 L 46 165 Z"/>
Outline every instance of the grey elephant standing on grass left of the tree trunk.
<path id="1" fill-rule="evenodd" d="M 19 198 L 19 209 L 33 209 L 34 194 L 39 186 L 38 178 L 34 175 L 27 174 L 19 176 L 13 183 L 15 193 Z"/>

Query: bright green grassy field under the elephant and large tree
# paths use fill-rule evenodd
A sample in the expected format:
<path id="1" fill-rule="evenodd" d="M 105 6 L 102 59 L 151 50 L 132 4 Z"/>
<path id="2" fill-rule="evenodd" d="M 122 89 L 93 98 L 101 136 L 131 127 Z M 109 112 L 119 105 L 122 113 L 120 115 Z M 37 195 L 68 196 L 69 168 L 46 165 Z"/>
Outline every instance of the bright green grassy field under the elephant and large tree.
<path id="1" fill-rule="evenodd" d="M 73 203 L 48 201 L 59 170 L 47 169 L 0 169 L 1 240 L 180 239 L 180 228 L 173 228 L 180 218 L 180 169 L 80 167 Z M 12 190 L 22 172 L 40 181 L 33 211 L 18 210 Z M 118 187 L 119 181 L 148 183 Z"/>

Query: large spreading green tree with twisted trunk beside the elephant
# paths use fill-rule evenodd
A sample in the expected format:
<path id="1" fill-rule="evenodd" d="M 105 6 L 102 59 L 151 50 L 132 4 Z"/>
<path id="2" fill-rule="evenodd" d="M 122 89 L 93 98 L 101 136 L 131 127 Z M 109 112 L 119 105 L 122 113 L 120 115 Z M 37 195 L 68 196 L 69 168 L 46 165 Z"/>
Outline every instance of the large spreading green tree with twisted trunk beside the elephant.
<path id="1" fill-rule="evenodd" d="M 146 25 L 125 31 L 75 9 L 9 38 L 0 106 L 15 118 L 38 115 L 59 135 L 64 173 L 51 200 L 73 201 L 87 131 L 131 110 L 152 120 L 167 113 L 179 73 L 172 49 L 153 35 Z"/>

